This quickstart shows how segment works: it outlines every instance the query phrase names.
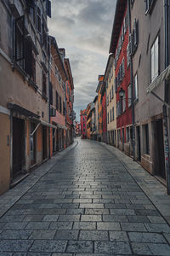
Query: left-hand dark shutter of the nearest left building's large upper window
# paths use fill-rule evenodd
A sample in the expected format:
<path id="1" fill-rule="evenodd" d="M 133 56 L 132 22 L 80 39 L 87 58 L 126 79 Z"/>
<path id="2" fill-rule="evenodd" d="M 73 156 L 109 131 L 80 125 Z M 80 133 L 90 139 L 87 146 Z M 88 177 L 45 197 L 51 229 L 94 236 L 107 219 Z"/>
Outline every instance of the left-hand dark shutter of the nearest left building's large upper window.
<path id="1" fill-rule="evenodd" d="M 15 61 L 24 60 L 25 15 L 15 20 Z"/>

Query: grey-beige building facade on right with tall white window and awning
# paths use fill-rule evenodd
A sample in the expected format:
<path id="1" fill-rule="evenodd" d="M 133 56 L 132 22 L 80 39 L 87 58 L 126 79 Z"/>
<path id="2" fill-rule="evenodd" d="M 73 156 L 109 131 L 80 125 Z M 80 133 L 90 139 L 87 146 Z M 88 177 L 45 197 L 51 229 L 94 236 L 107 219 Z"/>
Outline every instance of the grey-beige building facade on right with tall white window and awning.
<path id="1" fill-rule="evenodd" d="M 165 89 L 165 81 L 160 82 L 156 88 L 152 86 L 153 90 L 150 90 L 150 93 L 147 92 L 147 88 L 166 69 L 167 7 L 163 1 L 135 1 L 130 5 L 131 30 L 133 32 L 137 24 L 139 38 L 138 44 L 132 49 L 135 159 L 148 172 L 163 179 L 166 179 L 163 102 L 166 100 L 165 94 L 168 101 L 170 96 L 169 91 Z"/>

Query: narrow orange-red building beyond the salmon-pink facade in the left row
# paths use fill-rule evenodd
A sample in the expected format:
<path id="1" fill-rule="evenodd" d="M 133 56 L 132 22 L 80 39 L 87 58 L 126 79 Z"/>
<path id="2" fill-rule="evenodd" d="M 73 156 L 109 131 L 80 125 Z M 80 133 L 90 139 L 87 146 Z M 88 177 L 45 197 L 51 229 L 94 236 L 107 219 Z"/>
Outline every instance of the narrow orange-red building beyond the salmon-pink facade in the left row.
<path id="1" fill-rule="evenodd" d="M 71 65 L 68 58 L 65 58 L 65 71 L 67 80 L 65 82 L 65 108 L 66 108 L 66 146 L 73 142 L 73 102 L 74 102 L 74 84 L 71 73 Z"/>

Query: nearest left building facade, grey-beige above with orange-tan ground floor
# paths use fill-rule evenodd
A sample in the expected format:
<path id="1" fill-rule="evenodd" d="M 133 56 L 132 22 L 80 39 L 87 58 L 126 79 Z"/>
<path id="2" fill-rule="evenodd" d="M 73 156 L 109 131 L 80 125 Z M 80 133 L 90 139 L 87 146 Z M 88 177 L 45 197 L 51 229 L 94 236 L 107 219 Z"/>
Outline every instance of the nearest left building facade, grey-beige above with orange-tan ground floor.
<path id="1" fill-rule="evenodd" d="M 49 7 L 0 2 L 0 193 L 49 156 Z"/>

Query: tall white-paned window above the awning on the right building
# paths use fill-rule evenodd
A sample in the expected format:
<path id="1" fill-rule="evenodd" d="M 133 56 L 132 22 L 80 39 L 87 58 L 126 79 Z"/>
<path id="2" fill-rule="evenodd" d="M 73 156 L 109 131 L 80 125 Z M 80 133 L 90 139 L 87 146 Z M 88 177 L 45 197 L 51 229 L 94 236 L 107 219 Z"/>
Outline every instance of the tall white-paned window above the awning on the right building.
<path id="1" fill-rule="evenodd" d="M 159 75 L 159 36 L 151 47 L 151 82 Z"/>

